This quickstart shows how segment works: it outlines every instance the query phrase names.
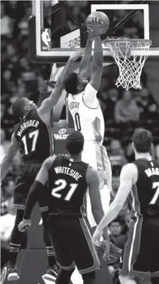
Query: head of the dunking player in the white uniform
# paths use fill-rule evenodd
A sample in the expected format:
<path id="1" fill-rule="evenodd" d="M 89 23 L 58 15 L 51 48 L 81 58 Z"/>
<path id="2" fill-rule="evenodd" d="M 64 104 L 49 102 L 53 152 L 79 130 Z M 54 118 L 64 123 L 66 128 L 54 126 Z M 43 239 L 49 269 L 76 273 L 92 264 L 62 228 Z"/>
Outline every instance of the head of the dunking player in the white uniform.
<path id="1" fill-rule="evenodd" d="M 77 95 L 77 93 L 84 91 L 88 83 L 88 79 L 84 79 L 77 73 L 72 72 L 65 80 L 65 90 L 67 93 Z"/>

